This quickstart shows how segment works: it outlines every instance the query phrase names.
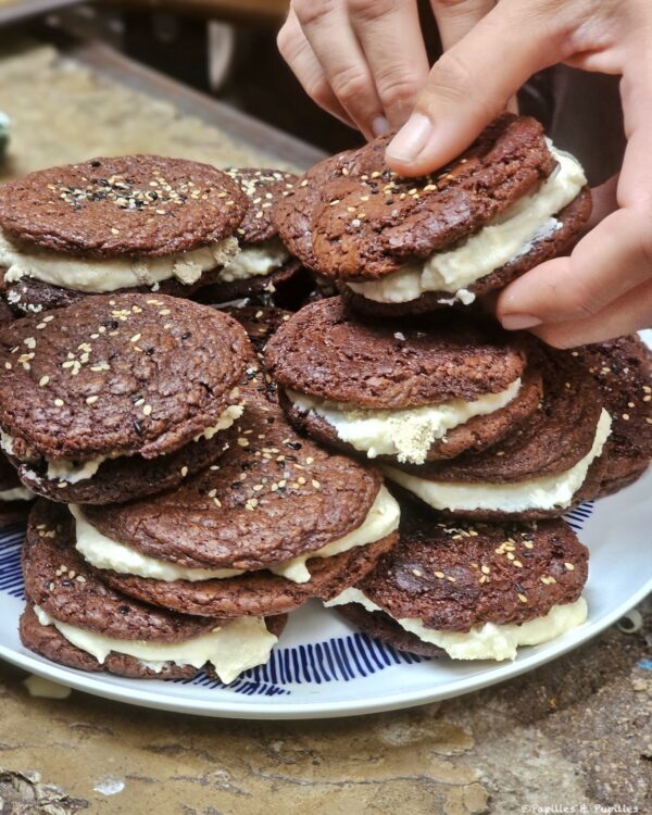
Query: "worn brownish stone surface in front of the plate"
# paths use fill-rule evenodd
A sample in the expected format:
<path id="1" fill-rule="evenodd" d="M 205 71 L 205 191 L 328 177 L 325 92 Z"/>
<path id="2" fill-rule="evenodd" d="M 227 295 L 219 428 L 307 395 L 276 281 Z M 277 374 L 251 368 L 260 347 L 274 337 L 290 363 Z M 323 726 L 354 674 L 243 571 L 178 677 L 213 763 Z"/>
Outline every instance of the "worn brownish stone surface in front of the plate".
<path id="1" fill-rule="evenodd" d="M 145 801 L 179 815 L 503 815 L 581 804 L 643 813 L 652 794 L 645 653 L 643 634 L 614 628 L 473 695 L 288 723 L 202 719 L 78 691 L 33 699 L 23 673 L 0 664 L 0 765 L 9 773 L 0 774 L 0 801 L 10 800 L 8 778 L 29 800 L 33 786 L 20 774 L 36 770 L 67 797 L 62 815 L 85 804 L 138 813 Z"/>

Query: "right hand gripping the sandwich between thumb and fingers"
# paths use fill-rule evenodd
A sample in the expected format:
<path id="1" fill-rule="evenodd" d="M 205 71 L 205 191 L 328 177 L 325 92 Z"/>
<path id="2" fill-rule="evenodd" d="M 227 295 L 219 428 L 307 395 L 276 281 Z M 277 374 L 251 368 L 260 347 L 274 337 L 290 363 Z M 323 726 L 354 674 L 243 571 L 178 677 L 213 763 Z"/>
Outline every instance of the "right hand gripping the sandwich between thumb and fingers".
<path id="1" fill-rule="evenodd" d="M 466 148 L 537 71 L 565 62 L 622 74 L 627 149 L 619 178 L 601 190 L 605 217 L 569 256 L 504 289 L 497 311 L 505 328 L 567 348 L 652 325 L 651 54 L 645 0 L 501 0 L 435 64 L 389 145 L 393 170 L 421 175 Z"/>

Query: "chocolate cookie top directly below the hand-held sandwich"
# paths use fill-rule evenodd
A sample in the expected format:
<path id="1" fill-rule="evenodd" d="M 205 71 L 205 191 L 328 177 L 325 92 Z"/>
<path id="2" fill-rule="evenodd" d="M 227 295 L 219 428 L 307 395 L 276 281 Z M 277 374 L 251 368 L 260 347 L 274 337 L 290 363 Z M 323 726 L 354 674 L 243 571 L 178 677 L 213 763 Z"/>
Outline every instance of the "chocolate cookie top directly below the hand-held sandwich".
<path id="1" fill-rule="evenodd" d="M 341 298 L 311 303 L 269 340 L 265 364 L 284 388 L 367 409 L 471 401 L 522 376 L 526 352 L 487 322 L 378 324 L 352 315 Z"/>

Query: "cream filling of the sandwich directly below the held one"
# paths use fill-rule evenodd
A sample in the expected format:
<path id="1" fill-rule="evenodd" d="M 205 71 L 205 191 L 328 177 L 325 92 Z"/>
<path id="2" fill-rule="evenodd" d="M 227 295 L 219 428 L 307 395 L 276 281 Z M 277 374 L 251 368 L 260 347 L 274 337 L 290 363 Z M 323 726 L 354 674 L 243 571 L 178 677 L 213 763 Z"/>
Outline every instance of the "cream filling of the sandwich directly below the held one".
<path id="1" fill-rule="evenodd" d="M 504 408 L 518 393 L 521 379 L 499 393 L 487 393 L 473 402 L 451 399 L 440 404 L 405 408 L 396 411 L 363 410 L 351 404 L 337 404 L 288 390 L 290 401 L 302 411 L 312 411 L 325 418 L 337 437 L 368 459 L 393 455 L 402 462 L 423 464 L 432 442 L 447 430 L 463 425 L 473 416 L 481 416 Z"/>

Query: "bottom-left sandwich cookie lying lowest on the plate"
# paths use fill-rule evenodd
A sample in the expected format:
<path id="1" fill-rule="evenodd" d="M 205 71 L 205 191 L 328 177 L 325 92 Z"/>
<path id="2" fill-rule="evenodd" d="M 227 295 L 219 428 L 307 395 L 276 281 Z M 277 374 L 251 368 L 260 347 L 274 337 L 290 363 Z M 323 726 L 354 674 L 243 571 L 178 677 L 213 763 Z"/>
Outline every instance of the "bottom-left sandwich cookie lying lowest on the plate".
<path id="1" fill-rule="evenodd" d="M 29 517 L 23 572 L 28 598 L 23 644 L 80 670 L 176 679 L 205 668 L 229 682 L 267 661 L 284 625 L 281 618 L 192 617 L 121 594 L 75 551 L 66 507 L 43 500 Z"/>

